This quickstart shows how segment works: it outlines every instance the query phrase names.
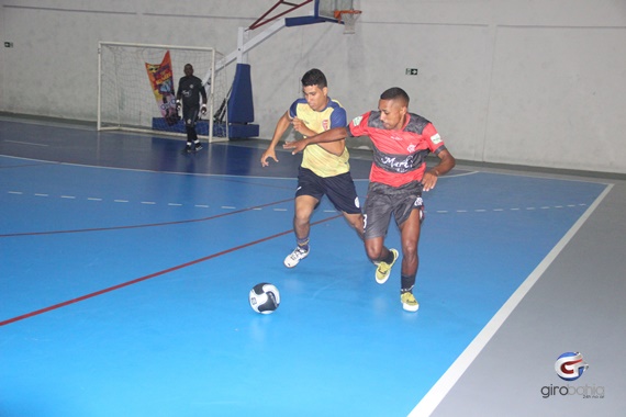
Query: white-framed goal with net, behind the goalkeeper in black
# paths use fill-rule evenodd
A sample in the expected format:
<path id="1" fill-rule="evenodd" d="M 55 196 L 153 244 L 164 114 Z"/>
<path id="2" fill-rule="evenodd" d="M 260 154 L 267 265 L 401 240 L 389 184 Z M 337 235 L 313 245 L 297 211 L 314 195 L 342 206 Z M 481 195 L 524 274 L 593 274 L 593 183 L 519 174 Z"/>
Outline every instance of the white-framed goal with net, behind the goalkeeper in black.
<path id="1" fill-rule="evenodd" d="M 98 48 L 98 129 L 186 136 L 176 111 L 178 81 L 186 64 L 202 79 L 208 112 L 198 135 L 227 139 L 226 71 L 215 71 L 224 56 L 214 48 L 100 42 Z"/>

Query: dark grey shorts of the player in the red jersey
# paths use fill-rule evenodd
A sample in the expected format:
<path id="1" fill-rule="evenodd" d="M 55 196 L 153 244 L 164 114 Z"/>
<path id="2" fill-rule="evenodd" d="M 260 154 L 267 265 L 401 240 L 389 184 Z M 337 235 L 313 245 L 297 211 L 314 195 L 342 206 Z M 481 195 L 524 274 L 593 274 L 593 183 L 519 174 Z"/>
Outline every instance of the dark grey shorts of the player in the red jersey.
<path id="1" fill-rule="evenodd" d="M 420 210 L 420 221 L 424 221 L 422 183 L 413 181 L 401 187 L 371 182 L 365 204 L 365 238 L 387 236 L 391 214 L 401 226 L 413 210 Z"/>

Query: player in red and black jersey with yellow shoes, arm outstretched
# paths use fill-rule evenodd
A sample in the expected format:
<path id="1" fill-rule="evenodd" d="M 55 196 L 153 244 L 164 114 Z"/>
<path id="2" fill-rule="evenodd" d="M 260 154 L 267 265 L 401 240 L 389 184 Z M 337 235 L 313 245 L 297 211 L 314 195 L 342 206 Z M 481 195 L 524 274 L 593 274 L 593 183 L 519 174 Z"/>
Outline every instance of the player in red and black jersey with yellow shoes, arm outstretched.
<path id="1" fill-rule="evenodd" d="M 400 228 L 402 270 L 400 301 L 415 312 L 420 304 L 413 295 L 420 257 L 417 247 L 424 219 L 422 191 L 435 188 L 437 179 L 456 165 L 437 129 L 426 119 L 409 112 L 409 94 L 394 87 L 380 95 L 378 111 L 355 117 L 347 127 L 336 127 L 315 136 L 284 144 L 293 154 L 306 146 L 369 136 L 373 144 L 370 184 L 365 205 L 365 247 L 378 262 L 376 280 L 382 284 L 398 259 L 398 250 L 384 247 L 391 215 Z M 426 170 L 426 156 L 435 154 L 439 164 Z"/>

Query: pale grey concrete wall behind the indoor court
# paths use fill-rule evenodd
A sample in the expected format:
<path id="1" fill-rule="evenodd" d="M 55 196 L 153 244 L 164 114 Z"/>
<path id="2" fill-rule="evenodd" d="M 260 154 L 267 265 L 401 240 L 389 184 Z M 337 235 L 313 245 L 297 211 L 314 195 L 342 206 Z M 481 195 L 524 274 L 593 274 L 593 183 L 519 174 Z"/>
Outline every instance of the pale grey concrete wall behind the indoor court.
<path id="1" fill-rule="evenodd" d="M 227 54 L 237 27 L 275 3 L 0 0 L 0 35 L 14 45 L 0 49 L 0 111 L 94 121 L 98 41 Z M 626 173 L 626 1 L 355 4 L 364 14 L 354 35 L 288 27 L 249 54 L 261 138 L 317 67 L 350 117 L 376 109 L 388 87 L 404 88 L 458 158 Z"/>

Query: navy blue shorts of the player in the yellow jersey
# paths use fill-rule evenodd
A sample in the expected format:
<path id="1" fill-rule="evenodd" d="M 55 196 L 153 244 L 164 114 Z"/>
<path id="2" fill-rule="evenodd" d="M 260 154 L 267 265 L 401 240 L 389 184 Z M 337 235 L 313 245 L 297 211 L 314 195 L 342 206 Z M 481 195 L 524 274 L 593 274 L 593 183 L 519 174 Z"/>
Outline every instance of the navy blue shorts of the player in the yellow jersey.
<path id="1" fill-rule="evenodd" d="M 348 214 L 361 213 L 357 189 L 350 172 L 334 177 L 320 177 L 310 169 L 300 167 L 295 196 L 311 195 L 317 201 L 326 194 L 331 203 L 339 212 Z"/>

